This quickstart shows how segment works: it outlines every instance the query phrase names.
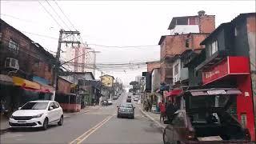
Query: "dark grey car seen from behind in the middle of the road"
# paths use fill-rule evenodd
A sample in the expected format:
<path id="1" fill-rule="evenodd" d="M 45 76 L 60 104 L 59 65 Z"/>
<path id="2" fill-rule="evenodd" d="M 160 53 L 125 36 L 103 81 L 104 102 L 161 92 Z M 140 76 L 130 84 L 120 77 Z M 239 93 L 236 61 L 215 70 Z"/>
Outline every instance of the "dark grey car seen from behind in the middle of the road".
<path id="1" fill-rule="evenodd" d="M 135 107 L 131 103 L 122 103 L 118 107 L 118 118 L 128 117 L 134 118 Z"/>

